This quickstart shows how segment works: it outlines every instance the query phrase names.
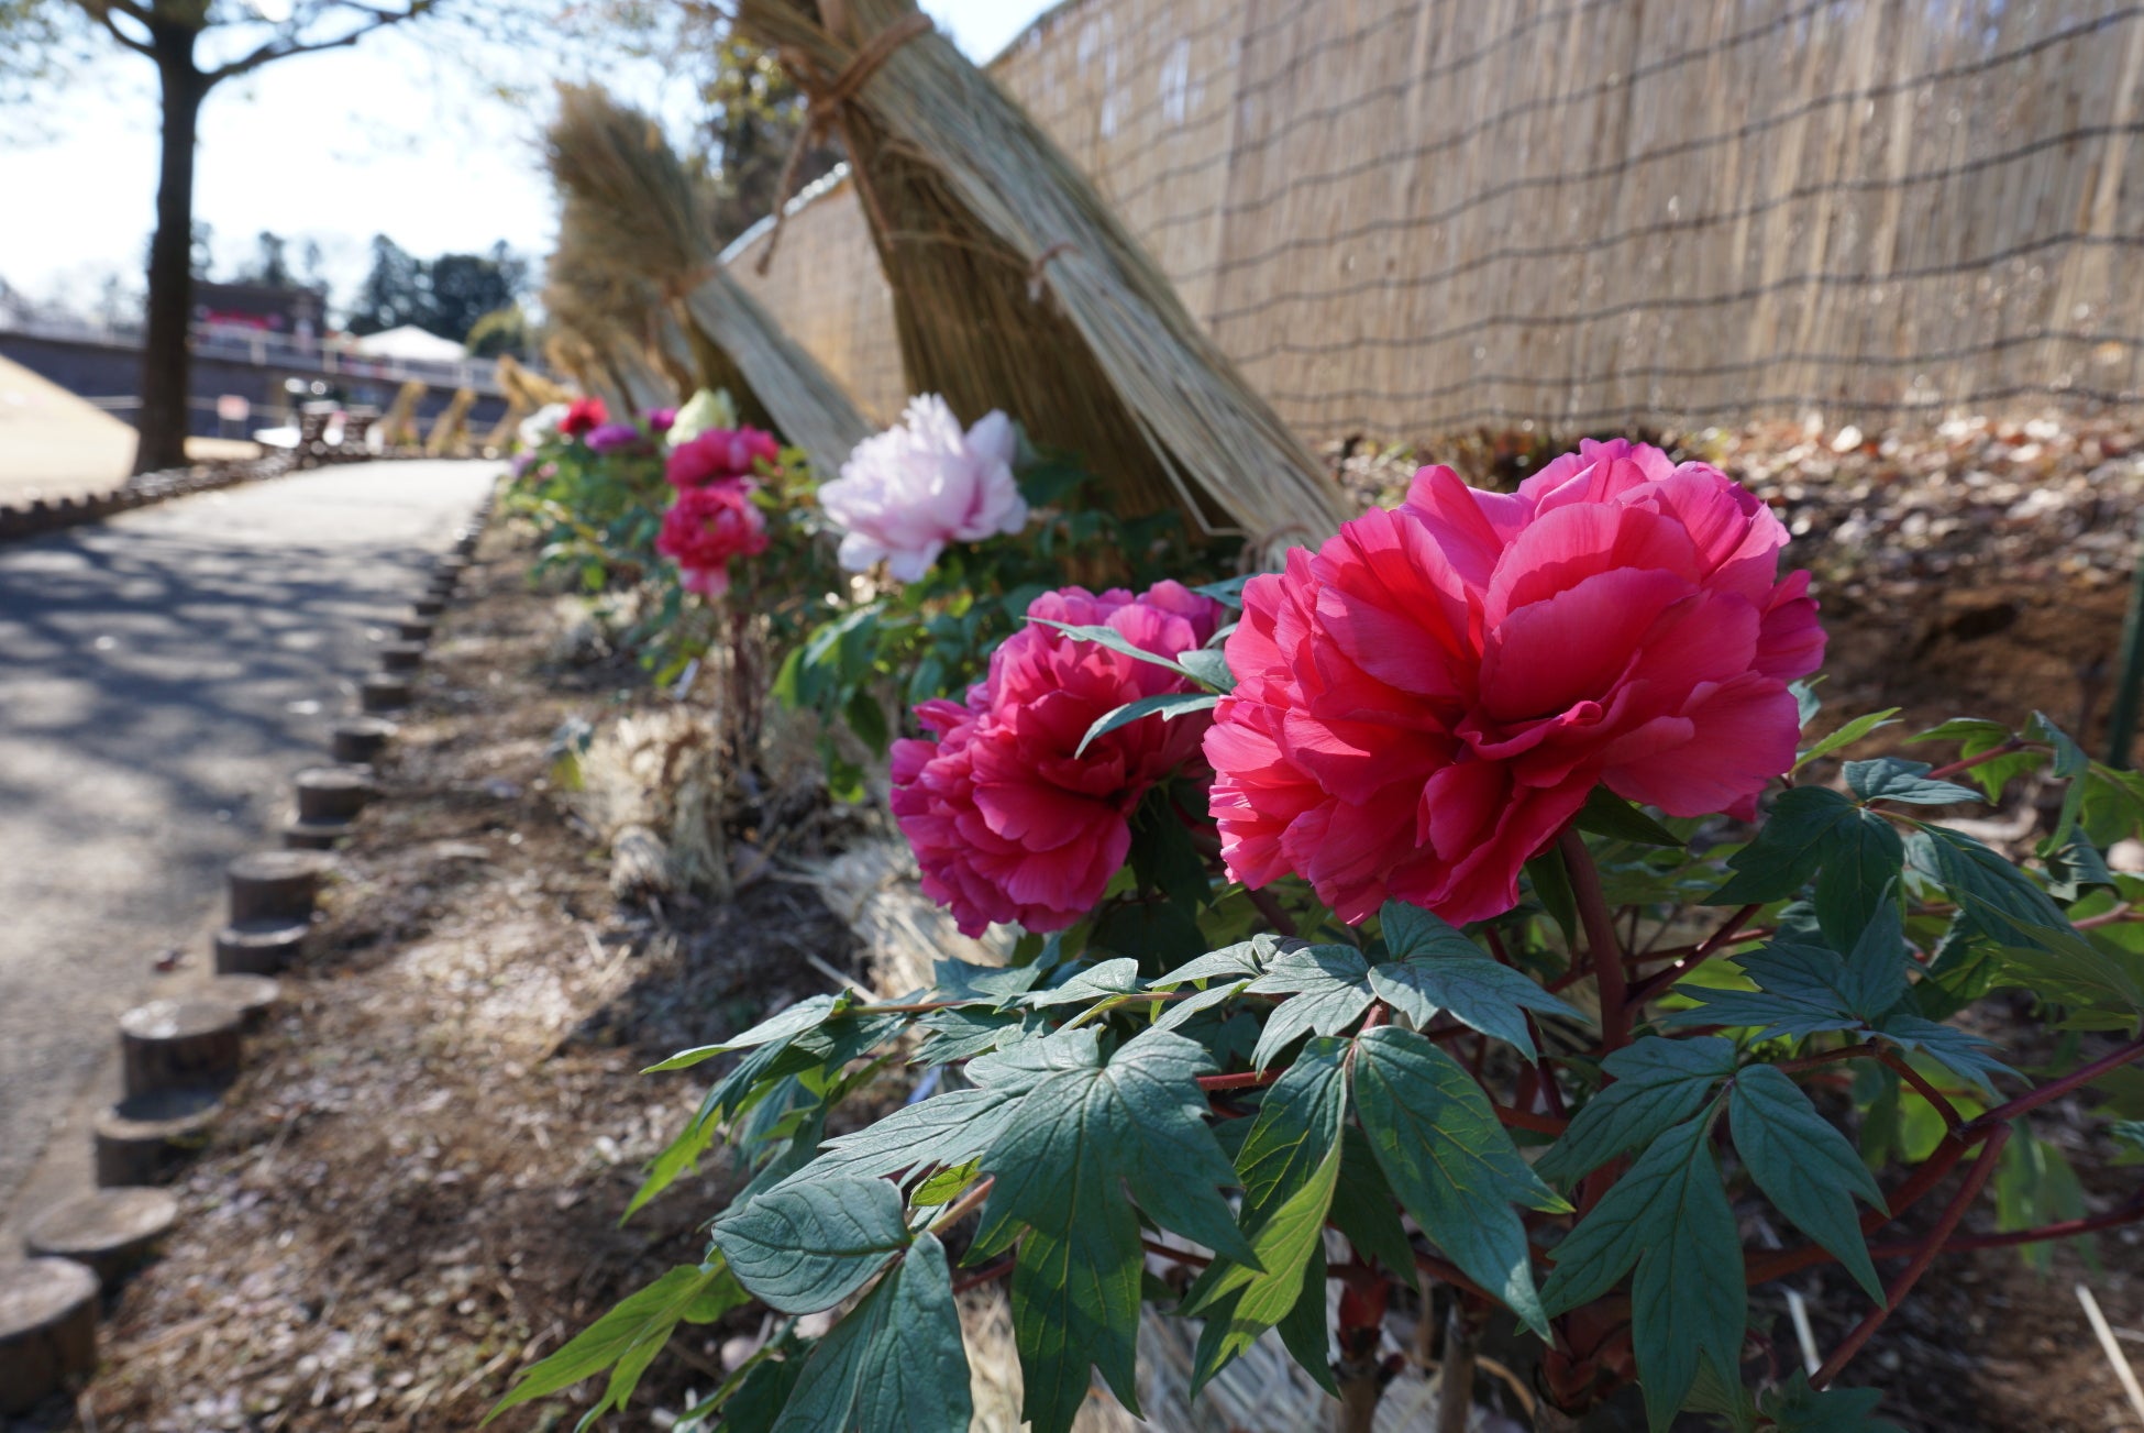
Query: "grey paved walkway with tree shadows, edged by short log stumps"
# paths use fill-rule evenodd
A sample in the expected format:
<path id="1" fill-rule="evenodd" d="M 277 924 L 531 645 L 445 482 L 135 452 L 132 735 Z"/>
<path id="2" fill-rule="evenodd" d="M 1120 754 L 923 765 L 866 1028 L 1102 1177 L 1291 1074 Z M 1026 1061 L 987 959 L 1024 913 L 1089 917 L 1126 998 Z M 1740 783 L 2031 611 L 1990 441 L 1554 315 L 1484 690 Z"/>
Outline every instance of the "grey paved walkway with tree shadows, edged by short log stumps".
<path id="1" fill-rule="evenodd" d="M 0 1210 L 495 472 L 354 463 L 0 545 Z"/>

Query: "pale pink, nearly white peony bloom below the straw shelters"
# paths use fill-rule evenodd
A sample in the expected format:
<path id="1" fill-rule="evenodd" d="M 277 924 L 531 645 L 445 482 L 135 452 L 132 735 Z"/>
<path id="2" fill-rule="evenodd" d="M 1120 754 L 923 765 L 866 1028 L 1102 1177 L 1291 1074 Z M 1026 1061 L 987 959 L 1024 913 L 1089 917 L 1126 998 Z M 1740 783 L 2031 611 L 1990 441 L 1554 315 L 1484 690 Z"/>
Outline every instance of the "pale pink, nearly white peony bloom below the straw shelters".
<path id="1" fill-rule="evenodd" d="M 930 571 L 946 543 L 976 543 L 1027 526 L 1012 481 L 1012 420 L 988 412 L 961 433 L 946 399 L 909 399 L 900 425 L 855 444 L 819 506 L 843 528 L 840 564 L 851 573 L 885 562 L 898 581 Z"/>

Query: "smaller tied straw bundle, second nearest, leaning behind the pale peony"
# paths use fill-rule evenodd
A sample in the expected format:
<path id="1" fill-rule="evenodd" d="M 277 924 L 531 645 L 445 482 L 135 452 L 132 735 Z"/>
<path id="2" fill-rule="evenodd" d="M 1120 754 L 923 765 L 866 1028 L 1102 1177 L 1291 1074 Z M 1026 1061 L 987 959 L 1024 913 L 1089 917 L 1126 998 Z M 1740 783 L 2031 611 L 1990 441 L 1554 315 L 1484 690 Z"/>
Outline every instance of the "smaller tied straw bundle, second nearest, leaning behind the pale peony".
<path id="1" fill-rule="evenodd" d="M 870 425 L 720 266 L 705 184 L 662 131 L 594 86 L 562 86 L 547 152 L 575 230 L 671 300 L 708 386 L 729 388 L 748 418 L 765 412 L 821 472 L 838 470 Z"/>

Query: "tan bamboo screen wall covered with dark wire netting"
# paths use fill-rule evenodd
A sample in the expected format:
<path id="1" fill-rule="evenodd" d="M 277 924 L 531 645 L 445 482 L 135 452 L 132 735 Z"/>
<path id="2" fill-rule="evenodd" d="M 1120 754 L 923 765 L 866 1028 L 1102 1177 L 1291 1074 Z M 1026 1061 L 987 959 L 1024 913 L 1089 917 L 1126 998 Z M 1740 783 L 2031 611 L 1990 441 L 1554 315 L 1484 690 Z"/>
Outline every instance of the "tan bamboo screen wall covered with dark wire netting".
<path id="1" fill-rule="evenodd" d="M 995 75 L 1312 440 L 2144 388 L 2144 4 L 1074 0 Z M 890 416 L 853 191 L 763 242 Z"/>

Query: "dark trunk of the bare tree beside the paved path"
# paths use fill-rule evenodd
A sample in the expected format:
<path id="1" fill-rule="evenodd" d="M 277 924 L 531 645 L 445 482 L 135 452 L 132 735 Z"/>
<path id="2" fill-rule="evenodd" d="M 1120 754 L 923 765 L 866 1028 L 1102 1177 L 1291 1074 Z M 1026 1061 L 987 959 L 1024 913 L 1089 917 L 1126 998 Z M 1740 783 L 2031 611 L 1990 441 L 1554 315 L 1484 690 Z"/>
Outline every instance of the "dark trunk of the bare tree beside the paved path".
<path id="1" fill-rule="evenodd" d="M 148 247 L 148 333 L 142 339 L 142 416 L 135 472 L 187 463 L 193 354 L 193 150 L 208 82 L 193 62 L 195 30 L 152 26 L 163 90 L 157 236 Z"/>

